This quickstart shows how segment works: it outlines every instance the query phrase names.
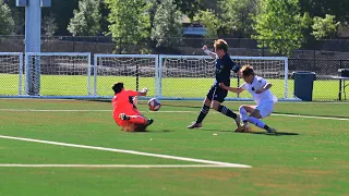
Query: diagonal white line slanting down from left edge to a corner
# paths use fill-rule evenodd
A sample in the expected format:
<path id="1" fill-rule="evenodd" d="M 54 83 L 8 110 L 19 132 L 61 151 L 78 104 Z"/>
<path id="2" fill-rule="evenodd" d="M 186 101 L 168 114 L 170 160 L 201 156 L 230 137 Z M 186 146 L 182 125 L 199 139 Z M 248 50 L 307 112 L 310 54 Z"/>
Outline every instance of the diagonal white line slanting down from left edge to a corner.
<path id="1" fill-rule="evenodd" d="M 159 154 L 148 154 L 148 152 L 142 152 L 142 151 L 105 148 L 105 147 L 98 147 L 98 146 L 86 146 L 86 145 L 76 145 L 76 144 L 68 144 L 68 143 L 58 143 L 58 142 L 32 139 L 32 138 L 24 138 L 24 137 L 12 137 L 12 136 L 5 136 L 5 135 L 0 135 L 0 138 L 24 140 L 24 142 L 32 142 L 32 143 L 41 143 L 41 144 L 50 144 L 50 145 L 57 145 L 57 146 L 68 146 L 68 147 L 74 147 L 74 148 L 113 151 L 113 152 L 120 152 L 120 154 L 140 155 L 140 156 L 147 156 L 147 157 L 157 157 L 157 158 L 164 158 L 164 159 L 182 160 L 182 161 L 198 162 L 198 163 L 205 163 L 205 164 L 225 166 L 225 167 L 229 167 L 229 168 L 251 168 L 251 166 L 237 164 L 237 163 L 230 163 L 230 162 L 220 162 L 220 161 L 212 161 L 212 160 L 204 160 L 204 159 L 193 159 L 193 158 L 186 158 L 186 157 L 176 157 L 176 156 L 159 155 Z"/>

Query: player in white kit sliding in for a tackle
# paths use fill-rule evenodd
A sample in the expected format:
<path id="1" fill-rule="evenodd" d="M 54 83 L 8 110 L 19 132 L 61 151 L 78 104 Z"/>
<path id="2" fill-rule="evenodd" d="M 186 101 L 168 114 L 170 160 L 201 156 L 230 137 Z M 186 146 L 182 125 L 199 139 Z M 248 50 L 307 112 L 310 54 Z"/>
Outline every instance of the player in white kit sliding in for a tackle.
<path id="1" fill-rule="evenodd" d="M 268 133 L 276 133 L 275 128 L 269 127 L 260 120 L 268 117 L 273 112 L 274 103 L 277 101 L 277 98 L 269 90 L 272 84 L 263 77 L 256 76 L 253 68 L 250 65 L 242 66 L 241 73 L 245 82 L 241 87 L 228 87 L 222 83 L 219 84 L 221 88 L 237 94 L 249 90 L 256 103 L 256 106 L 240 106 L 240 117 L 244 124 L 244 130 L 238 130 L 238 132 L 251 131 L 251 127 L 249 126 L 250 122 L 266 130 Z M 248 112 L 250 115 L 248 115 Z"/>

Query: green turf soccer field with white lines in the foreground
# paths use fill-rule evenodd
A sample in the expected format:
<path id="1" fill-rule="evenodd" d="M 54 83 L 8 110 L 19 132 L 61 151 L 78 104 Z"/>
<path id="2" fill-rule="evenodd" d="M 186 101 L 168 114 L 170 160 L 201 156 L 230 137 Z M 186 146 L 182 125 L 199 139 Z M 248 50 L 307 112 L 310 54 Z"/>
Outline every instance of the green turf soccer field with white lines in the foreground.
<path id="1" fill-rule="evenodd" d="M 0 99 L 0 195 L 348 194 L 349 103 L 278 102 L 278 135 L 233 133 L 213 110 L 188 130 L 201 106 L 141 101 L 155 122 L 125 133 L 110 101 Z"/>

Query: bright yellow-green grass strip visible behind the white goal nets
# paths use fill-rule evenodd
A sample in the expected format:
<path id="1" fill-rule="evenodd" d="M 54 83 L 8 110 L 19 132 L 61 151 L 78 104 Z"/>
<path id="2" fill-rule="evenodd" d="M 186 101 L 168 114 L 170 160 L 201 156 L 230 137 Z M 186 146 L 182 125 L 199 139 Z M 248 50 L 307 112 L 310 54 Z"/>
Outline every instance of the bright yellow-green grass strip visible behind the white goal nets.
<path id="1" fill-rule="evenodd" d="M 0 95 L 17 95 L 19 94 L 19 76 L 15 74 L 0 74 L 1 85 Z M 23 79 L 24 81 L 24 79 Z M 268 79 L 274 86 L 273 94 L 277 97 L 284 97 L 285 84 L 282 79 Z M 134 76 L 98 76 L 97 77 L 97 95 L 111 96 L 110 86 L 116 82 L 124 82 L 127 88 L 134 89 L 136 79 Z M 207 94 L 213 78 L 163 78 L 161 95 L 164 97 L 177 98 L 203 98 Z M 242 83 L 242 81 L 241 81 Z M 24 83 L 23 83 L 24 84 Z M 41 75 L 40 77 L 40 95 L 43 96 L 87 96 L 87 76 L 76 75 Z M 92 79 L 92 86 L 94 81 Z M 155 95 L 155 78 L 141 77 L 139 79 L 140 88 L 148 87 L 148 96 Z M 238 86 L 238 81 L 232 79 L 231 86 Z M 293 97 L 293 81 L 288 82 L 288 96 Z M 338 99 L 338 81 L 315 81 L 313 89 L 313 100 L 337 100 Z M 23 86 L 24 91 L 24 86 Z M 93 90 L 92 90 L 93 93 Z M 233 93 L 229 97 L 236 98 Z M 241 98 L 250 98 L 249 93 L 242 93 Z"/>

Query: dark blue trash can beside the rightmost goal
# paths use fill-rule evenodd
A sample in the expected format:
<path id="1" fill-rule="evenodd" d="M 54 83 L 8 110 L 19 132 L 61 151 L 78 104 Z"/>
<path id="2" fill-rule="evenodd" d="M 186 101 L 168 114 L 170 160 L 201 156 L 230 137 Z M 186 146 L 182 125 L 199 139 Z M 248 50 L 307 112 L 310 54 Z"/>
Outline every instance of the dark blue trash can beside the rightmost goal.
<path id="1" fill-rule="evenodd" d="M 314 72 L 293 72 L 292 78 L 294 79 L 294 96 L 303 101 L 313 100 L 313 84 L 316 79 Z"/>

